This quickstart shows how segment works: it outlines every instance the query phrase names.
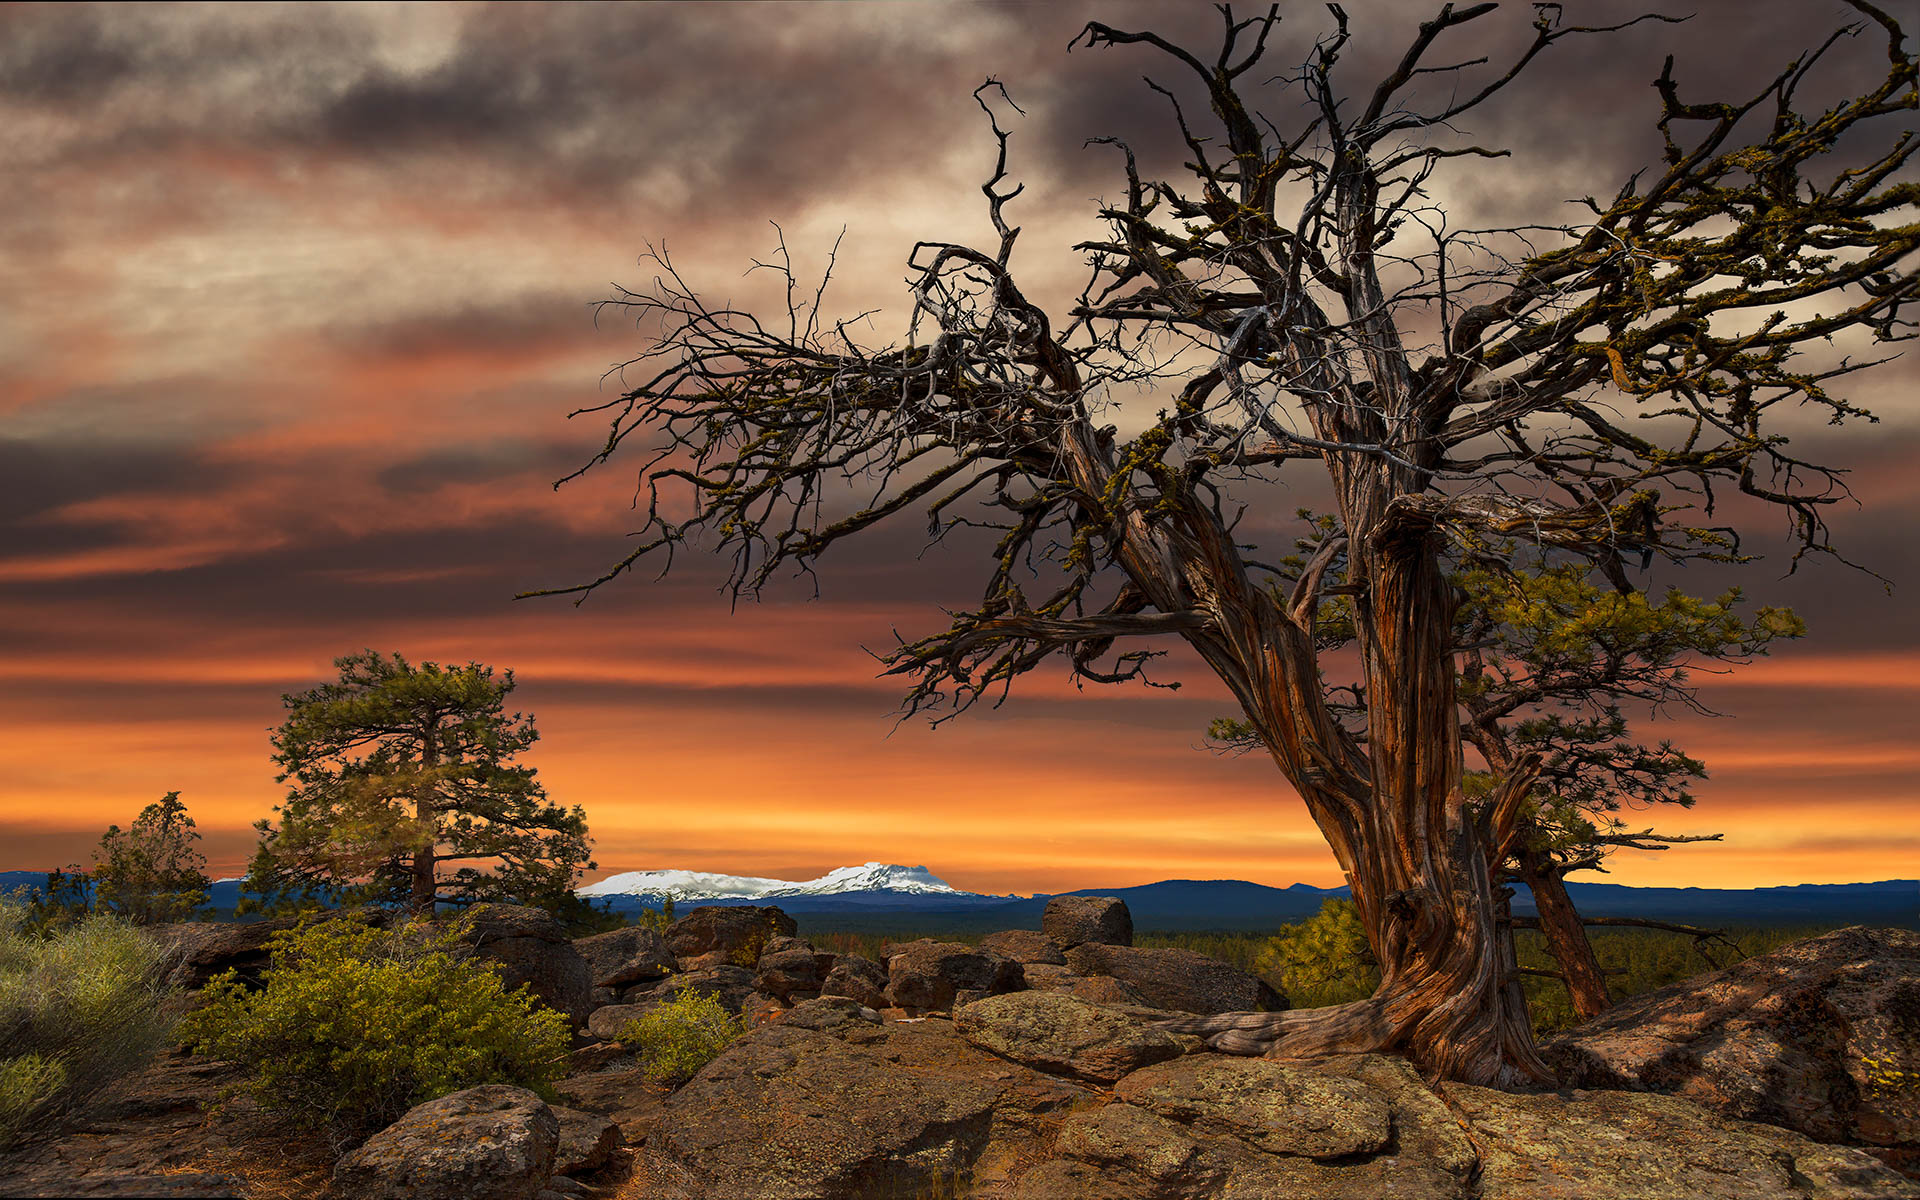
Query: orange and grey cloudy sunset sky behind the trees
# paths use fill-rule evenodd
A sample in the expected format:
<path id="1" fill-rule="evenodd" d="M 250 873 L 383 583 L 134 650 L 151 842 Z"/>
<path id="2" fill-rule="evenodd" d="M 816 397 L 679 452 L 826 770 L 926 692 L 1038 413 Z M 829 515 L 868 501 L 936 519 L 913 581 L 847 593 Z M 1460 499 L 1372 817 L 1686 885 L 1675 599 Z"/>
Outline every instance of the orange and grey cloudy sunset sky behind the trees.
<path id="1" fill-rule="evenodd" d="M 1354 79 L 1430 4 L 1356 0 Z M 1893 6 L 1899 10 L 1901 6 Z M 1288 6 L 1275 75 L 1323 31 Z M 1578 6 L 1624 19 L 1626 6 Z M 1102 4 L 1119 27 L 1217 44 L 1202 6 Z M 1920 13 L 1914 13 L 1920 17 Z M 1338 883 L 1271 762 L 1221 756 L 1204 672 L 1179 691 L 1089 687 L 1046 666 L 996 710 L 900 720 L 870 651 L 977 601 L 977 547 L 924 551 L 895 520 L 806 584 L 732 607 L 684 555 L 586 605 L 639 516 L 634 465 L 559 490 L 605 438 L 568 413 L 618 394 L 645 330 L 591 301 L 643 290 L 666 248 L 712 298 L 783 236 L 803 276 L 835 238 L 828 309 L 904 323 L 920 236 L 985 242 L 1002 81 L 1025 194 L 1016 271 L 1064 307 L 1116 157 L 1167 146 L 1144 48 L 1068 52 L 1071 4 L 6 6 L 0 8 L 0 870 L 84 860 L 179 789 L 211 874 L 240 874 L 282 797 L 280 697 L 359 649 L 511 668 L 553 799 L 582 804 L 605 876 L 684 868 L 806 879 L 881 860 L 987 893 L 1169 877 Z M 1459 58 L 1511 58 L 1530 8 Z M 1705 4 L 1680 27 L 1563 42 L 1475 113 L 1436 198 L 1461 221 L 1565 219 L 1653 161 L 1667 54 L 1701 96 L 1755 90 L 1845 23 L 1824 0 Z M 1916 21 L 1914 25 L 1920 25 Z M 1484 29 L 1484 31 L 1482 31 Z M 1878 79 L 1870 38 L 1816 88 Z M 1261 96 L 1286 113 L 1284 83 Z M 776 225 L 778 230 L 776 232 Z M 1912 355 L 1908 355 L 1912 357 Z M 1920 872 L 1920 371 L 1849 396 L 1880 422 L 1795 430 L 1851 470 L 1832 563 L 1738 582 L 1811 636 L 1699 676 L 1722 716 L 1638 714 L 1713 776 L 1688 812 L 1628 814 L 1724 843 L 1620 854 L 1611 879 L 1753 887 Z M 1283 480 L 1281 511 L 1313 493 Z M 1751 515 L 1751 545 L 1784 522 Z M 1734 576 L 1665 582 L 1695 591 Z"/>

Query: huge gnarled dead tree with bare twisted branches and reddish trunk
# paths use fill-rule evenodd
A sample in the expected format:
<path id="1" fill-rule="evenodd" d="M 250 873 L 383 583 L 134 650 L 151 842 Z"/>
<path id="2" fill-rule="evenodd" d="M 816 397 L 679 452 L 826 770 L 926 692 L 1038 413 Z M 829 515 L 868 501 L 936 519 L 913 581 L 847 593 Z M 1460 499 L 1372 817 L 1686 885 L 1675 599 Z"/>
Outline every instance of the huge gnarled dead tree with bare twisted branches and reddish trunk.
<path id="1" fill-rule="evenodd" d="M 612 419 L 595 463 L 653 442 L 647 522 L 572 591 L 697 536 L 732 553 L 737 595 L 906 509 L 935 530 L 996 524 L 979 607 L 889 657 L 912 680 L 908 710 L 1004 695 L 1052 655 L 1081 680 L 1146 680 L 1150 643 L 1181 639 L 1352 883 L 1375 996 L 1187 1025 L 1229 1052 L 1396 1050 L 1436 1077 L 1538 1079 L 1494 866 L 1540 762 L 1511 764 L 1484 801 L 1463 791 L 1448 561 L 1519 538 L 1630 589 L 1624 563 L 1738 555 L 1711 524 L 1716 490 L 1780 505 L 1801 551 L 1826 549 L 1822 505 L 1843 490 L 1795 457 L 1776 417 L 1864 417 L 1834 384 L 1866 363 L 1799 351 L 1849 330 L 1910 338 L 1920 290 L 1920 196 L 1899 179 L 1916 67 L 1893 19 L 1855 8 L 1857 27 L 1743 102 L 1684 100 L 1663 71 L 1663 161 L 1580 223 L 1524 230 L 1448 228 L 1425 184 L 1500 154 L 1461 144 L 1463 113 L 1557 42 L 1607 33 L 1565 25 L 1559 6 L 1538 6 L 1528 46 L 1486 71 L 1428 65 L 1494 10 L 1444 6 L 1359 88 L 1332 6 L 1267 113 L 1242 86 L 1273 77 L 1256 67 L 1277 10 L 1223 10 L 1212 60 L 1092 23 L 1075 44 L 1190 73 L 1212 119 L 1165 90 L 1188 157 L 1165 177 L 1110 142 L 1125 186 L 1100 209 L 1110 234 L 1079 248 L 1092 263 L 1079 303 L 1056 317 L 1016 282 L 1020 188 L 991 86 L 975 96 L 998 140 L 983 186 L 998 240 L 914 248 L 904 342 L 862 344 L 804 286 L 778 321 L 708 305 L 660 255 L 651 292 L 614 300 L 659 330 L 628 365 L 641 382 L 591 409 Z M 1851 33 L 1885 38 L 1885 77 L 1797 111 L 1801 81 Z M 1453 98 L 1415 100 L 1409 84 L 1436 75 L 1459 83 Z M 1828 167 L 1843 134 L 1851 165 Z M 1169 405 L 1121 438 L 1102 417 L 1129 386 Z M 1235 505 L 1271 511 L 1265 484 L 1288 465 L 1323 470 L 1334 493 L 1332 528 L 1298 572 L 1261 566 L 1235 536 Z M 1317 622 L 1331 597 L 1352 601 L 1365 741 L 1329 707 Z"/>

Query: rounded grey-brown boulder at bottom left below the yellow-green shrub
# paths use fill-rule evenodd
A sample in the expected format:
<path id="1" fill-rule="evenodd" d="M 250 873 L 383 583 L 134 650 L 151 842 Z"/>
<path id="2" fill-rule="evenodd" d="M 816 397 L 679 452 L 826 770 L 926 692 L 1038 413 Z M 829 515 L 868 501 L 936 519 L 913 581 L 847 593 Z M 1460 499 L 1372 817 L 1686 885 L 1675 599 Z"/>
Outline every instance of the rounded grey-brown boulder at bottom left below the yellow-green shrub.
<path id="1" fill-rule="evenodd" d="M 534 1092 L 488 1083 L 428 1100 L 334 1165 L 344 1200 L 534 1200 L 561 1121 Z"/>

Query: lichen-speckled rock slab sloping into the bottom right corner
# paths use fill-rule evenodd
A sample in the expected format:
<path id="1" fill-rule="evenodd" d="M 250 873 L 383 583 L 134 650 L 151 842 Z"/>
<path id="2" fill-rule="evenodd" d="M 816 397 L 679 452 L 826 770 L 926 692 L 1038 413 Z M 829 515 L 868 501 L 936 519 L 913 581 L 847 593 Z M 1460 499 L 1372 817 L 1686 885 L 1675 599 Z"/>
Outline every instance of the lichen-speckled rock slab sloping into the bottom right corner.
<path id="1" fill-rule="evenodd" d="M 1893 1200 L 1872 1156 L 1722 1117 L 1674 1096 L 1509 1094 L 1444 1085 L 1480 1146 L 1482 1200 Z"/>

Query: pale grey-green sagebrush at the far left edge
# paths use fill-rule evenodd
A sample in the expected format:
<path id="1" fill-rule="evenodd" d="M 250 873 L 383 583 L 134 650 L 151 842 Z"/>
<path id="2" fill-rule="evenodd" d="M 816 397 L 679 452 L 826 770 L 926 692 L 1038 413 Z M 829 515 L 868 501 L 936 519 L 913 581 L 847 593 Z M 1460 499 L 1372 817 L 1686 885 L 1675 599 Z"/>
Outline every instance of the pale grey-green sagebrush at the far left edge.
<path id="1" fill-rule="evenodd" d="M 35 927 L 0 897 L 0 1148 L 79 1116 L 154 1058 L 165 958 L 115 916 Z"/>

